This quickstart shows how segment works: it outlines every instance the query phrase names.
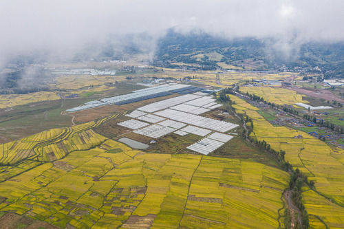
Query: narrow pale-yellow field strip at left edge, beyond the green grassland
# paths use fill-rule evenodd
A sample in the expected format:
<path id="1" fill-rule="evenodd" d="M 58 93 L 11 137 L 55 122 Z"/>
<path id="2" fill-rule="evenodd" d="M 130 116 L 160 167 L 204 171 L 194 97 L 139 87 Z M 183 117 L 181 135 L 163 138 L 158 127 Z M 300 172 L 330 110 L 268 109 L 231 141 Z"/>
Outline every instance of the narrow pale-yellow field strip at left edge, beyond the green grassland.
<path id="1" fill-rule="evenodd" d="M 0 95 L 0 109 L 25 105 L 32 102 L 42 102 L 47 100 L 59 100 L 60 96 L 56 92 L 39 91 L 29 94 Z"/>

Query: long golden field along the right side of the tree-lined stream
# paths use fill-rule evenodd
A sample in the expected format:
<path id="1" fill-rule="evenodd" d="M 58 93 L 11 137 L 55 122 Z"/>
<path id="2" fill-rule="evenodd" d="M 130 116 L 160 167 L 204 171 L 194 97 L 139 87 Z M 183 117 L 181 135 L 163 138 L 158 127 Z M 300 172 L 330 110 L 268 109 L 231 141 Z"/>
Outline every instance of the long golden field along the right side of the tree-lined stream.
<path id="1" fill-rule="evenodd" d="M 257 107 L 249 105 L 236 96 L 230 96 L 230 98 L 236 102 L 233 107 L 237 113 L 246 113 L 252 118 L 252 137 L 265 140 L 276 151 L 286 151 L 286 161 L 308 175 L 309 180 L 314 180 L 319 193 L 332 199 L 331 202 L 312 190 L 305 192 L 303 198 L 308 214 L 320 217 L 330 228 L 344 227 L 344 151 L 331 149 L 325 142 L 303 131 L 274 127 L 257 113 Z M 302 135 L 303 138 L 294 138 L 297 135 Z M 327 205 L 326 203 L 331 204 Z M 328 212 L 325 214 L 325 211 L 321 210 L 324 205 L 327 210 L 336 213 L 334 215 Z M 315 227 L 319 224 L 316 222 L 319 221 L 316 217 L 310 219 L 312 226 Z M 313 222 L 312 219 L 316 219 L 316 221 Z"/>

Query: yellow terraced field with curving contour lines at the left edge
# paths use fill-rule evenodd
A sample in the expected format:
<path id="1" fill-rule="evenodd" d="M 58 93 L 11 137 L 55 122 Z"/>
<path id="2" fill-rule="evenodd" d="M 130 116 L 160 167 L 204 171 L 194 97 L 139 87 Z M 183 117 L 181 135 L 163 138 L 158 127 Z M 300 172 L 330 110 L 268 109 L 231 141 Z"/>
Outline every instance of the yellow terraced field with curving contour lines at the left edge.
<path id="1" fill-rule="evenodd" d="M 110 116 L 96 122 L 87 122 L 74 127 L 51 129 L 14 142 L 0 144 L 0 163 L 11 165 L 30 158 L 38 161 L 52 161 L 64 157 L 75 150 L 90 149 L 105 141 L 105 137 L 95 133 L 92 128 Z"/>

